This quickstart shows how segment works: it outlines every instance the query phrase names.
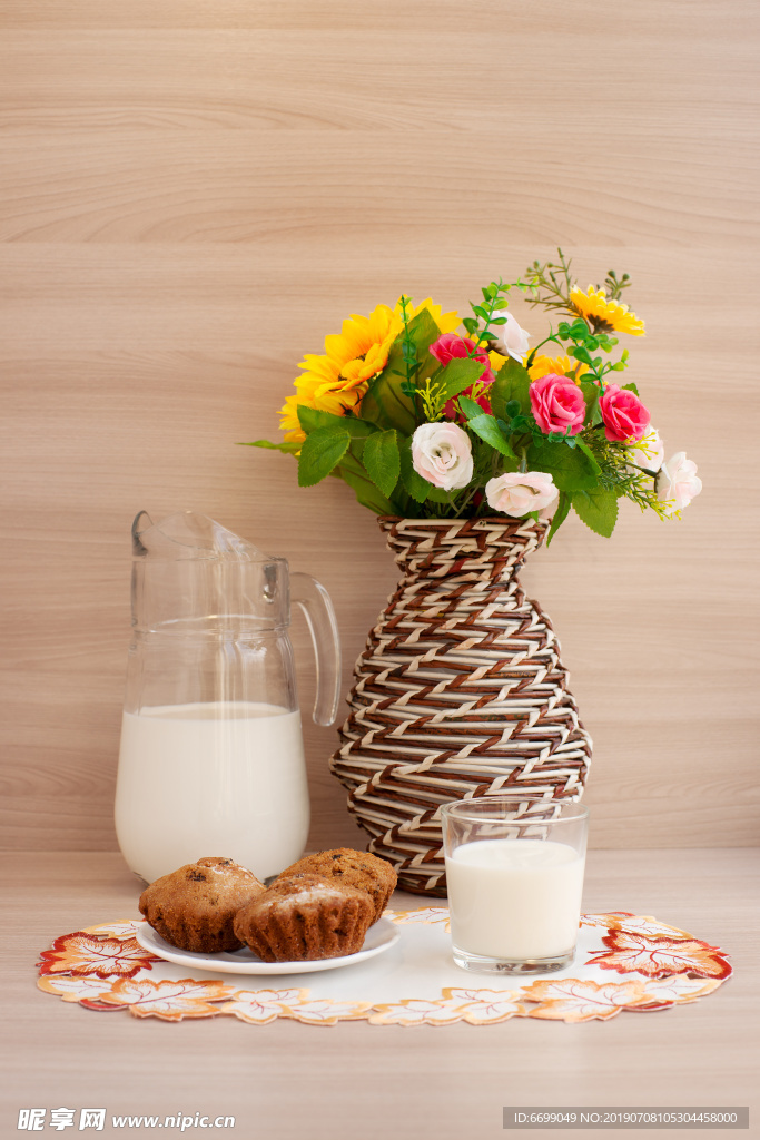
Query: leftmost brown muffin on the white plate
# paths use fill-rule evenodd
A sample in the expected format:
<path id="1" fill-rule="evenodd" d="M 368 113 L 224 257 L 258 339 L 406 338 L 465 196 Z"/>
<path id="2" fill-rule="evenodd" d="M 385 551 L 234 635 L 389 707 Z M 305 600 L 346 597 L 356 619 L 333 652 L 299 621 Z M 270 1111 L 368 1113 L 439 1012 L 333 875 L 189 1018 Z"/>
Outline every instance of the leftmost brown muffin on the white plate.
<path id="1" fill-rule="evenodd" d="M 235 915 L 265 889 L 231 858 L 199 858 L 146 887 L 140 911 L 172 946 L 213 954 L 240 948 Z"/>

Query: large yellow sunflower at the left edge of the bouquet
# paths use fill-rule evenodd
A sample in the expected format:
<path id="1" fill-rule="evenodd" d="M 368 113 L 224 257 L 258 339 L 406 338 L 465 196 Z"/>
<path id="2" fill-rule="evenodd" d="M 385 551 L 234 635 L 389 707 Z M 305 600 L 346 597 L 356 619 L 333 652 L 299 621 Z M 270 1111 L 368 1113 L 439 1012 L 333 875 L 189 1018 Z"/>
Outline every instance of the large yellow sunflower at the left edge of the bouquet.
<path id="1" fill-rule="evenodd" d="M 428 310 L 442 333 L 453 332 L 459 324 L 456 312 L 441 312 L 441 306 L 433 304 L 430 298 L 408 309 L 408 319 L 423 309 Z M 340 333 L 326 336 L 325 355 L 308 353 L 303 358 L 299 365 L 303 372 L 295 380 L 296 394 L 289 396 L 280 408 L 285 438 L 299 442 L 305 439 L 299 423 L 299 404 L 335 416 L 356 408 L 369 381 L 387 364 L 391 345 L 402 328 L 400 303 L 394 309 L 378 304 L 368 317 L 352 314 Z"/>

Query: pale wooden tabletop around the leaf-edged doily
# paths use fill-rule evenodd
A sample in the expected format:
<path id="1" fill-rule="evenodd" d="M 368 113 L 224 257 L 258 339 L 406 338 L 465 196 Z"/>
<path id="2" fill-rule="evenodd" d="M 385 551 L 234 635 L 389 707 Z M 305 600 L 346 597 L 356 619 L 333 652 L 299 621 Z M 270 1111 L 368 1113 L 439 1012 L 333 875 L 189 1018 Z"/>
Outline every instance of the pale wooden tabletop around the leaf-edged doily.
<path id="1" fill-rule="evenodd" d="M 226 1134 L 246 1140 L 480 1140 L 502 1134 L 506 1105 L 749 1105 L 749 1134 L 760 1135 L 757 849 L 589 853 L 585 910 L 655 914 L 721 946 L 736 972 L 713 995 L 607 1023 L 414 1029 L 287 1020 L 256 1027 L 232 1018 L 166 1024 L 58 1001 L 35 990 L 38 952 L 57 935 L 137 917 L 138 883 L 117 854 L 0 858 L 11 931 L 2 1137 L 17 1134 L 19 1108 L 66 1106 L 232 1115 L 236 1127 Z M 398 896 L 393 905 L 418 903 Z"/>

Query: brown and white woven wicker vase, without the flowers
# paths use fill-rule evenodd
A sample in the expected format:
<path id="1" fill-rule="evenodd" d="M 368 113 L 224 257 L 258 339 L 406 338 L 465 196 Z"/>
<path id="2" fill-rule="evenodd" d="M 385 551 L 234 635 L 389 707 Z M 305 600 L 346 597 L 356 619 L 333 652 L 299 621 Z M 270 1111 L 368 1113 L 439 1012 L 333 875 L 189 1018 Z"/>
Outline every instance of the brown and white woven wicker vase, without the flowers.
<path id="1" fill-rule="evenodd" d="M 551 622 L 517 571 L 547 522 L 382 518 L 402 578 L 356 667 L 330 760 L 399 886 L 446 894 L 440 805 L 577 799 L 591 741 Z"/>

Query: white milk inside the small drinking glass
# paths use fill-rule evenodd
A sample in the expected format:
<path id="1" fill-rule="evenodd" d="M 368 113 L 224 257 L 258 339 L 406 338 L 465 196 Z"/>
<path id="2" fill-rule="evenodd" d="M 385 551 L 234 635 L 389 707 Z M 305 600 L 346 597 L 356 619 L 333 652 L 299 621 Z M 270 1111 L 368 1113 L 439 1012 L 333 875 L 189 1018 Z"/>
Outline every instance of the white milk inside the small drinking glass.
<path id="1" fill-rule="evenodd" d="M 480 839 L 446 860 L 451 939 L 505 961 L 545 959 L 575 946 L 585 860 L 566 844 Z"/>

